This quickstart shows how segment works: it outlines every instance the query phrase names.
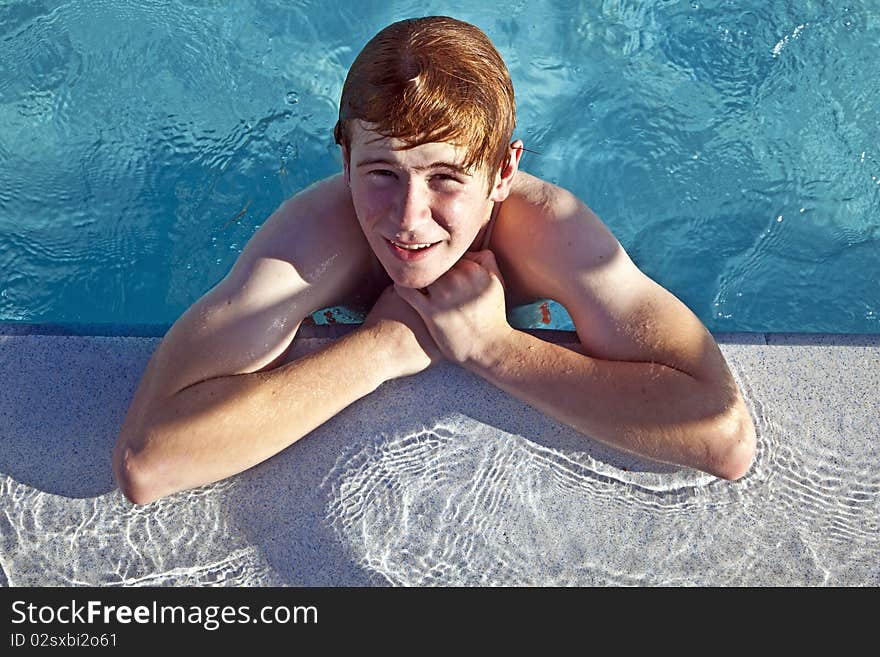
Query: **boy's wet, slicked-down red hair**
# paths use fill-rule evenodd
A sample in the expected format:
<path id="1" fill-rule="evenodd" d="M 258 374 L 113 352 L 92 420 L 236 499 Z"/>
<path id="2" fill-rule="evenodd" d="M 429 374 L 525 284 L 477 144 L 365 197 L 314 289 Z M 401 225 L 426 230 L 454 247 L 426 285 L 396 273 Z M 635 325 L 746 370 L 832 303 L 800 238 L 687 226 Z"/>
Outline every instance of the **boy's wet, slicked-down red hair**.
<path id="1" fill-rule="evenodd" d="M 491 187 L 516 125 L 513 83 L 479 28 L 446 16 L 411 18 L 370 39 L 348 71 L 333 136 L 349 153 L 354 120 L 407 148 L 454 144 L 466 153 L 462 165 L 487 171 Z"/>

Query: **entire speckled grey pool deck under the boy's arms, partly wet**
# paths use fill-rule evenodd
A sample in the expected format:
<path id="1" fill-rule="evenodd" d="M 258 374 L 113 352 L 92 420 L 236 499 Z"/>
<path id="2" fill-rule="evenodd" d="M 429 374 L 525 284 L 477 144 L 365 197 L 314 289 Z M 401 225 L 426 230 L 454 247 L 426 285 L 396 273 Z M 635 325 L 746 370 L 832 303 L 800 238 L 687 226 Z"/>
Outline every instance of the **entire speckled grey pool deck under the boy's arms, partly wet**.
<path id="1" fill-rule="evenodd" d="M 304 327 L 294 349 L 351 328 Z M 442 364 L 134 507 L 110 453 L 160 338 L 90 330 L 0 325 L 0 585 L 880 585 L 878 335 L 715 335 L 759 434 L 735 483 Z"/>

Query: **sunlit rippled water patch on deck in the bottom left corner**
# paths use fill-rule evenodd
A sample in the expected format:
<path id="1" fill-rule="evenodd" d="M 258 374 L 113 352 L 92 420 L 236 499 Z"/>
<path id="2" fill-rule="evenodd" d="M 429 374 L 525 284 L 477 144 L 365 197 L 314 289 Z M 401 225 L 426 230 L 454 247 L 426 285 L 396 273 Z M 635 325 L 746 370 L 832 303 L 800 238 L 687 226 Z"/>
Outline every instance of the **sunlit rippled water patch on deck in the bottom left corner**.
<path id="1" fill-rule="evenodd" d="M 0 568 L 11 586 L 276 583 L 254 547 L 230 543 L 237 534 L 220 504 L 228 488 L 209 486 L 147 508 L 118 491 L 72 500 L 4 477 Z"/>

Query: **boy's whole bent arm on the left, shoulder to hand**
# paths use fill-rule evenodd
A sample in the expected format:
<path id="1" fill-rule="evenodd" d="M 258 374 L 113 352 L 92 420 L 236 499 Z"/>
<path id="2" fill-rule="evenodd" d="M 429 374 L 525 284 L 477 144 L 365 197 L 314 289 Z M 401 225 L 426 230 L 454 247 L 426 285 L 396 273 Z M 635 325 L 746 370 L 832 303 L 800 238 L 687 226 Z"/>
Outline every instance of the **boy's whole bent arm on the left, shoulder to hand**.
<path id="1" fill-rule="evenodd" d="M 337 182 L 286 202 L 150 358 L 113 451 L 131 501 L 241 472 L 383 381 L 442 359 L 418 315 L 386 291 L 358 330 L 287 362 L 303 318 L 360 282 L 362 267 L 337 257 L 363 240 L 346 208 L 327 210 Z"/>

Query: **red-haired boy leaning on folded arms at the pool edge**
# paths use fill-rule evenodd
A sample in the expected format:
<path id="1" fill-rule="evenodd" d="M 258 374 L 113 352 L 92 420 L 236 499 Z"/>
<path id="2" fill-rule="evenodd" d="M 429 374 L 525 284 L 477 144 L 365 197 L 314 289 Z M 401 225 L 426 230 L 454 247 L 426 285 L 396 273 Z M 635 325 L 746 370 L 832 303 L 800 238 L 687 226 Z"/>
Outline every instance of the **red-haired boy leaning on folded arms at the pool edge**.
<path id="1" fill-rule="evenodd" d="M 476 27 L 377 34 L 343 87 L 343 172 L 285 201 L 153 354 L 113 455 L 126 497 L 241 472 L 443 360 L 618 449 L 743 476 L 755 429 L 712 336 L 586 205 L 519 171 L 514 124 L 507 67 Z M 541 298 L 566 308 L 577 350 L 508 325 L 508 305 Z M 371 310 L 289 358 L 331 305 Z"/>

